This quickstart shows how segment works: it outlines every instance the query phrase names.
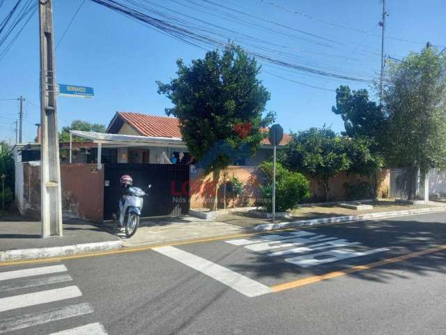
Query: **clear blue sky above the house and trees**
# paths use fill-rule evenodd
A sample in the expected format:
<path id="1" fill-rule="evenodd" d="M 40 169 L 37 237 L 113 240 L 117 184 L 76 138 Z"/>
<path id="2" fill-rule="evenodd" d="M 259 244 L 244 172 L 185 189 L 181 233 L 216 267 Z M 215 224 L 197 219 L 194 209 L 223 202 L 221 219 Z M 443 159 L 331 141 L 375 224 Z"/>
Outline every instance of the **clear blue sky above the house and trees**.
<path id="1" fill-rule="evenodd" d="M 56 43 L 82 1 L 54 0 Z M 4 1 L 0 20 L 15 2 Z M 380 70 L 381 0 L 151 0 L 149 3 L 164 13 L 212 24 L 224 31 L 222 38 L 230 38 L 247 50 L 252 50 L 253 45 L 268 47 L 277 57 L 292 59 L 300 66 L 367 80 L 376 77 Z M 446 1 L 387 0 L 386 10 L 385 54 L 390 57 L 401 59 L 410 51 L 418 52 L 426 41 L 440 45 L 440 50 L 446 45 Z M 229 20 L 228 13 L 238 21 Z M 13 122 L 18 116 L 18 101 L 1 99 L 20 95 L 25 99 L 23 142 L 36 137 L 34 125 L 40 121 L 38 41 L 35 13 L 0 60 L 0 140 L 15 142 Z M 155 81 L 169 82 L 176 76 L 176 59 L 189 64 L 205 52 L 86 0 L 56 49 L 56 81 L 93 87 L 95 98 L 60 96 L 59 128 L 68 126 L 73 119 L 107 126 L 116 111 L 164 116 L 164 108 L 171 107 L 171 103 L 157 94 Z M 342 131 L 341 118 L 331 111 L 334 90 L 341 84 L 351 89 L 370 86 L 369 82 L 309 75 L 260 63 L 259 78 L 271 94 L 266 109 L 277 113 L 276 121 L 285 131 L 324 124 Z M 377 98 L 373 92 L 371 98 Z"/>

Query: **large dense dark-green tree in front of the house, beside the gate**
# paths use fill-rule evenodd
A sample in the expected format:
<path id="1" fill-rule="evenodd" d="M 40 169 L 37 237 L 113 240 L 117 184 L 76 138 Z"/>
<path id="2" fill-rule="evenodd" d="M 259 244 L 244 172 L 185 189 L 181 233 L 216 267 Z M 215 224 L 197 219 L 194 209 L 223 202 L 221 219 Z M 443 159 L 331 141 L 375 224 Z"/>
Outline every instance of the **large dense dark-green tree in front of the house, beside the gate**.
<path id="1" fill-rule="evenodd" d="M 174 104 L 166 113 L 179 119 L 192 156 L 213 172 L 215 209 L 220 170 L 243 154 L 254 154 L 266 135 L 261 128 L 274 120 L 272 112 L 263 117 L 270 94 L 257 78 L 256 60 L 233 44 L 207 52 L 190 66 L 181 59 L 176 64 L 178 77 L 169 84 L 157 82 L 158 93 Z M 240 124 L 249 125 L 249 131 L 240 135 Z"/>

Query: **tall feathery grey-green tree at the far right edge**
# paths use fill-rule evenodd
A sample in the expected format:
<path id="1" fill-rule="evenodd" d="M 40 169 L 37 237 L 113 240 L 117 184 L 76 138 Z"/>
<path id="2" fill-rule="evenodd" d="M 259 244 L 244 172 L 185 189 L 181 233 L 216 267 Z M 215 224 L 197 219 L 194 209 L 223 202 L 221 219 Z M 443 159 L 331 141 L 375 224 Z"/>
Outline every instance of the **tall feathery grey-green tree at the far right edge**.
<path id="1" fill-rule="evenodd" d="M 390 61 L 385 83 L 385 154 L 392 165 L 411 168 L 413 199 L 418 169 L 425 175 L 446 167 L 446 54 L 426 47 Z"/>

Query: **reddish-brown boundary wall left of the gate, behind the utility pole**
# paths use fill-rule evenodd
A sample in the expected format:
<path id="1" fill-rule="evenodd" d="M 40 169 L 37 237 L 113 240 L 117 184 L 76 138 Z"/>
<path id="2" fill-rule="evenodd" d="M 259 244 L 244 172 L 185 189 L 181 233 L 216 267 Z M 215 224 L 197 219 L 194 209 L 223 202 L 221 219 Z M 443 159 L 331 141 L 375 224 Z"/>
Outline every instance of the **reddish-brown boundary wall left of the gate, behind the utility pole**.
<path id="1" fill-rule="evenodd" d="M 22 215 L 40 217 L 40 162 L 20 164 L 23 195 L 19 211 Z M 102 222 L 104 170 L 96 170 L 95 164 L 62 164 L 61 186 L 64 217 Z"/>

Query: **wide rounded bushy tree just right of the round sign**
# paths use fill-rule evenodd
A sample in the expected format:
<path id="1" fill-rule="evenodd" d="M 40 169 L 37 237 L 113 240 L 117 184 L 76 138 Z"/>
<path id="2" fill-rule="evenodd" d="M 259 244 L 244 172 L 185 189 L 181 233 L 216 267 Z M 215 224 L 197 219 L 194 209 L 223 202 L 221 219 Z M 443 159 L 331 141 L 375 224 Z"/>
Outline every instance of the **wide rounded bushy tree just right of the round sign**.
<path id="1" fill-rule="evenodd" d="M 310 128 L 292 133 L 292 140 L 280 156 L 286 168 L 303 172 L 323 186 L 325 201 L 330 198 L 328 181 L 351 167 L 346 152 L 347 137 L 336 135 L 330 128 Z"/>

